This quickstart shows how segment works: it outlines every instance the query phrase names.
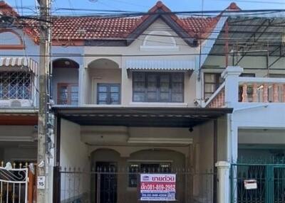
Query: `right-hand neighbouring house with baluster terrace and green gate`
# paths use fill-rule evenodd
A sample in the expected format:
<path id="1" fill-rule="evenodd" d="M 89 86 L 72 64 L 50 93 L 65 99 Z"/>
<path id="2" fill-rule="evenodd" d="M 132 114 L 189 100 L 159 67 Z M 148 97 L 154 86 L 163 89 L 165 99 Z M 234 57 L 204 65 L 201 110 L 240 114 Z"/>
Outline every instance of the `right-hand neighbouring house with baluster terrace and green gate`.
<path id="1" fill-rule="evenodd" d="M 202 105 L 234 108 L 227 117 L 232 190 L 224 193 L 232 202 L 284 202 L 284 14 L 229 16 L 202 65 L 209 97 Z"/>

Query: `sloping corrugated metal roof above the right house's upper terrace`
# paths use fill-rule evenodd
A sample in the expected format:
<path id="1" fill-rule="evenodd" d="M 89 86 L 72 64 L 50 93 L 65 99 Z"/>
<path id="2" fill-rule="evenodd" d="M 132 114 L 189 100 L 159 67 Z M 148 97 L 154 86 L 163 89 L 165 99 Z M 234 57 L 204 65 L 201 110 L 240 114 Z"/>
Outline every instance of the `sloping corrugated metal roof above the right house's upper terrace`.
<path id="1" fill-rule="evenodd" d="M 240 58 L 245 55 L 284 57 L 284 17 L 284 11 L 268 15 L 229 16 L 228 38 L 224 26 L 209 55 L 225 55 L 228 39 L 229 53 Z"/>

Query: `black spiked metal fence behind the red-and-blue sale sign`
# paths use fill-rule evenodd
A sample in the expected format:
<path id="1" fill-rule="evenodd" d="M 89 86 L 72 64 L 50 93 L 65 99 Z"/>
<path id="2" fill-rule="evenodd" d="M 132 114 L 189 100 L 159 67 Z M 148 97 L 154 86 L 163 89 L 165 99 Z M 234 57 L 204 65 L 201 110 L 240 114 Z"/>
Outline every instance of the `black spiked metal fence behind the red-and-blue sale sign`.
<path id="1" fill-rule="evenodd" d="M 130 170 L 97 168 L 85 171 L 80 168 L 58 168 L 56 183 L 57 202 L 125 203 L 140 201 L 141 173 L 171 173 L 176 175 L 176 199 L 179 203 L 214 202 L 213 172 L 190 172 L 176 169 L 170 171 Z"/>

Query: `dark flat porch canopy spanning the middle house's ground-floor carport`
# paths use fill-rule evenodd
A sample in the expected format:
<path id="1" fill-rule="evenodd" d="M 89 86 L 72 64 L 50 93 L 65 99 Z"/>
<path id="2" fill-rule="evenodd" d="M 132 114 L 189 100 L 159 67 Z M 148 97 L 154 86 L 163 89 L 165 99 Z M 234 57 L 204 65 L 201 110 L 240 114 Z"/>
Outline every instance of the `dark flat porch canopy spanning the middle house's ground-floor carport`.
<path id="1" fill-rule="evenodd" d="M 82 126 L 197 126 L 225 114 L 229 108 L 187 107 L 72 107 L 53 106 L 58 118 L 67 119 Z"/>

